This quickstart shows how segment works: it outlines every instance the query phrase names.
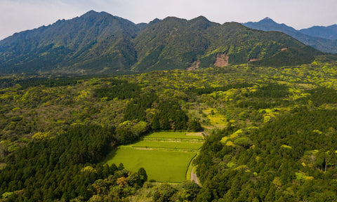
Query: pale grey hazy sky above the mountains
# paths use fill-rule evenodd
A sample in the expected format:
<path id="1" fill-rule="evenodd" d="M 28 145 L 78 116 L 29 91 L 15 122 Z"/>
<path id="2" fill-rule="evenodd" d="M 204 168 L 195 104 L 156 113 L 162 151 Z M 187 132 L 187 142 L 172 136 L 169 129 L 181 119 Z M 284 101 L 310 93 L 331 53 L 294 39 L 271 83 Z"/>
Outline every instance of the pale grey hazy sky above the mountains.
<path id="1" fill-rule="evenodd" d="M 87 11 L 106 11 L 132 22 L 204 15 L 213 22 L 248 22 L 270 17 L 295 29 L 337 24 L 336 0 L 0 0 L 0 39 L 71 19 Z"/>

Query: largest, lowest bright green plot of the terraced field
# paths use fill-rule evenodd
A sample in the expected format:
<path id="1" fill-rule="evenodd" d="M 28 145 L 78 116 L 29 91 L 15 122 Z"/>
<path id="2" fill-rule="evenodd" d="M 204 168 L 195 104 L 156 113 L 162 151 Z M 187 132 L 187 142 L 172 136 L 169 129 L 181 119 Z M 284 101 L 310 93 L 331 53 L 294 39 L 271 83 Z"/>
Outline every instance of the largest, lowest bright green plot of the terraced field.
<path id="1" fill-rule="evenodd" d="M 117 166 L 123 163 L 126 170 L 137 171 L 143 167 L 148 180 L 157 182 L 183 182 L 191 159 L 197 152 L 159 151 L 157 149 L 135 149 L 120 147 L 107 161 Z"/>

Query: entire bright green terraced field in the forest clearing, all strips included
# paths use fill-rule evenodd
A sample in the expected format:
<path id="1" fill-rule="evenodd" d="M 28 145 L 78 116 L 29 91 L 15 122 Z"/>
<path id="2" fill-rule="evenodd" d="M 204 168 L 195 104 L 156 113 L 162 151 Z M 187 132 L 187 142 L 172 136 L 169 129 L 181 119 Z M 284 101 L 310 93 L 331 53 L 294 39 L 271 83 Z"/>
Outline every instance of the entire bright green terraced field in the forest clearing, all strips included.
<path id="1" fill-rule="evenodd" d="M 118 166 L 123 163 L 132 171 L 143 167 L 148 180 L 156 182 L 183 182 L 190 162 L 203 142 L 199 133 L 152 133 L 140 142 L 119 147 L 107 164 Z"/>

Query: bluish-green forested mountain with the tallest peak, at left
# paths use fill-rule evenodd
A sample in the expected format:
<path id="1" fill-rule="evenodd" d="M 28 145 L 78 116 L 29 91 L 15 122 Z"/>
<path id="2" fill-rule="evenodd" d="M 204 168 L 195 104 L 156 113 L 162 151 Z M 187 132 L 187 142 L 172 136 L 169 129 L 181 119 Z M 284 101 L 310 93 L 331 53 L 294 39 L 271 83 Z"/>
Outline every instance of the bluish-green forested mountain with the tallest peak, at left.
<path id="1" fill-rule="evenodd" d="M 137 32 L 133 22 L 89 11 L 0 41 L 0 69 L 9 73 L 128 70 L 137 60 L 131 41 Z"/>

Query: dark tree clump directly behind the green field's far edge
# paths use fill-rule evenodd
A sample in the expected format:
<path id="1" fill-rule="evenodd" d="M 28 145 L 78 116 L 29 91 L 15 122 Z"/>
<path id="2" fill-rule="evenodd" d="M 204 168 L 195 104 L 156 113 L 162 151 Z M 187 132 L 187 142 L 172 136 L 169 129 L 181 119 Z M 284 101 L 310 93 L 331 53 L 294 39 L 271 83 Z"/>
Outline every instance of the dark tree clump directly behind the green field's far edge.
<path id="1" fill-rule="evenodd" d="M 160 100 L 145 94 L 128 102 L 124 122 L 117 127 L 117 141 L 128 144 L 151 130 L 201 131 L 199 119 L 189 120 L 177 100 Z"/>

